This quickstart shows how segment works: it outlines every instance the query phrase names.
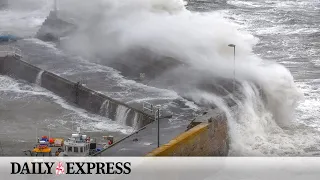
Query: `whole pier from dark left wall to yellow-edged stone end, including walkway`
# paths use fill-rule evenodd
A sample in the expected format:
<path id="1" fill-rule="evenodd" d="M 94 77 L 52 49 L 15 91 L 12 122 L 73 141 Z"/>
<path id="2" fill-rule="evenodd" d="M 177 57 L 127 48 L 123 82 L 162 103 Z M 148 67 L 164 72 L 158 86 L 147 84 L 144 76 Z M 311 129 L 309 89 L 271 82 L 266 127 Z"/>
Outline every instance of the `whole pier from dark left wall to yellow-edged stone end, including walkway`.
<path id="1" fill-rule="evenodd" d="M 22 60 L 12 46 L 0 46 L 0 74 L 35 83 L 88 112 L 107 116 L 134 128 L 132 134 L 95 156 L 226 156 L 227 120 L 212 111 L 184 124 L 172 126 L 170 114 L 156 115 L 156 107 L 135 107 Z M 151 105 L 151 104 L 149 104 Z M 137 108 L 138 107 L 138 108 Z M 155 108 L 155 109 L 153 109 Z"/>

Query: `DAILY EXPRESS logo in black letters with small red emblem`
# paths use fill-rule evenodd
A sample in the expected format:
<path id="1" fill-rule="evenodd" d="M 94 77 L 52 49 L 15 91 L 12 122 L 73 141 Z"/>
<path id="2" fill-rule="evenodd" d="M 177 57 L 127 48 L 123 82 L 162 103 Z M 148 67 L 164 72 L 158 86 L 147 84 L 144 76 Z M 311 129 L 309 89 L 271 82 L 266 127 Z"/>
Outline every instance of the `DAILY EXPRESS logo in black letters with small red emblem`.
<path id="1" fill-rule="evenodd" d="M 64 165 L 65 164 L 65 165 Z M 130 162 L 11 162 L 11 174 L 130 174 Z"/>

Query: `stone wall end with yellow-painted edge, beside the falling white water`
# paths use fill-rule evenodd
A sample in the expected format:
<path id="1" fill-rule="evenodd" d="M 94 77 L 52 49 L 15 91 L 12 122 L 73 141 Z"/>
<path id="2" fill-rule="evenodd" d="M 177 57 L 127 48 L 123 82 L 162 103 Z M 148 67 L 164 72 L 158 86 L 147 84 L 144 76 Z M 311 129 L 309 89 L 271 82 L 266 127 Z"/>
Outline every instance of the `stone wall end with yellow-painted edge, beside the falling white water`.
<path id="1" fill-rule="evenodd" d="M 147 156 L 227 156 L 228 151 L 227 119 L 215 110 L 191 122 L 186 132 Z"/>

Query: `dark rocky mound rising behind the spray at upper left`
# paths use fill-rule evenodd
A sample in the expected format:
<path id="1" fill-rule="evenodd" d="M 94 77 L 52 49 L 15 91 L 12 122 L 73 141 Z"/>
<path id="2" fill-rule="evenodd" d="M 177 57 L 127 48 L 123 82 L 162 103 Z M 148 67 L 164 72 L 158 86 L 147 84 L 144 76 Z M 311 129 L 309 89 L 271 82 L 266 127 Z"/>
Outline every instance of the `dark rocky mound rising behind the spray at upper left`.
<path id="1" fill-rule="evenodd" d="M 74 24 L 60 19 L 54 11 L 51 11 L 44 21 L 36 37 L 43 41 L 58 41 L 76 29 Z"/>

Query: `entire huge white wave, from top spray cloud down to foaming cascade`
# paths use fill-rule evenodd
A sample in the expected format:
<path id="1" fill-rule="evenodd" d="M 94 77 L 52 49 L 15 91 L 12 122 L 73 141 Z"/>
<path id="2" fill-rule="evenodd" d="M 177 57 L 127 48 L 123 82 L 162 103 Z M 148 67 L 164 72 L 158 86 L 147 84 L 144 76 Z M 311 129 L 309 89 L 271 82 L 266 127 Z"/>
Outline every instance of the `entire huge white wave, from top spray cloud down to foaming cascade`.
<path id="1" fill-rule="evenodd" d="M 163 69 L 153 85 L 172 88 L 198 104 L 214 104 L 225 111 L 230 155 L 297 155 L 315 143 L 315 132 L 295 131 L 301 125 L 292 124 L 303 95 L 290 71 L 273 59 L 255 55 L 253 48 L 259 39 L 239 30 L 221 12 L 191 12 L 185 5 L 182 0 L 60 1 L 61 15 L 79 27 L 61 46 L 101 64 L 141 63 L 144 56 L 148 63 L 162 62 L 165 57 L 178 61 L 177 68 Z M 232 82 L 231 43 L 236 45 L 235 72 L 241 92 L 241 97 L 230 95 L 238 105 L 236 110 L 218 94 L 195 86 L 198 81 L 215 84 L 216 77 Z M 168 79 L 176 83 L 168 86 Z"/>

